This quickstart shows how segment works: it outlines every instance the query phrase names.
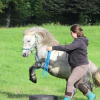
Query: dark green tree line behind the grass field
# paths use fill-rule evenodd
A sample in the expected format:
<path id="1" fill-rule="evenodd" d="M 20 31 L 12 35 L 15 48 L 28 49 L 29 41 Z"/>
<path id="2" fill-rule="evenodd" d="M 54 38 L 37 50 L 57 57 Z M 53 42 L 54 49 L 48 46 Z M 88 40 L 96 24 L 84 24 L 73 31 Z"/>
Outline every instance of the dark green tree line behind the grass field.
<path id="1" fill-rule="evenodd" d="M 0 0 L 0 26 L 99 24 L 100 0 Z"/>

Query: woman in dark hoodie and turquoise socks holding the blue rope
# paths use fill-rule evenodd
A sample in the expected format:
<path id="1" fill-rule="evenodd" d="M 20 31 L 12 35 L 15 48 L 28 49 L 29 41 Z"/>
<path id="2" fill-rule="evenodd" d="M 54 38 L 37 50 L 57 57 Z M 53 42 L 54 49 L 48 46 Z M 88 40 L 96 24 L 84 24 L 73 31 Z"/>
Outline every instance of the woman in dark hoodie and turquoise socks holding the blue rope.
<path id="1" fill-rule="evenodd" d="M 46 49 L 65 51 L 69 54 L 68 61 L 72 69 L 72 73 L 68 79 L 64 100 L 71 100 L 73 86 L 78 88 L 89 100 L 95 99 L 93 94 L 82 81 L 82 77 L 86 74 L 89 62 L 87 57 L 88 38 L 84 36 L 83 29 L 74 24 L 70 28 L 71 36 L 74 41 L 69 45 L 49 46 Z"/>

